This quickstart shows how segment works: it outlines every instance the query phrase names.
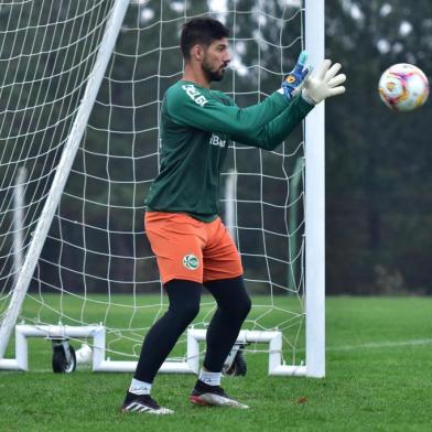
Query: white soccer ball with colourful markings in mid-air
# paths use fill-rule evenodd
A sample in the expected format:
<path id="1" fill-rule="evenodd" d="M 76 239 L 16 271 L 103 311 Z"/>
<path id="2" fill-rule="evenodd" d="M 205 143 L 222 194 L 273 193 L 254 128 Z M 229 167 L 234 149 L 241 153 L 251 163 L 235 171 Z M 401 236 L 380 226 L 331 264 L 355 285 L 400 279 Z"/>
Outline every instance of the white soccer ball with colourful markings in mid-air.
<path id="1" fill-rule="evenodd" d="M 409 63 L 390 66 L 379 79 L 379 96 L 395 111 L 421 107 L 429 96 L 429 83 L 421 69 Z"/>

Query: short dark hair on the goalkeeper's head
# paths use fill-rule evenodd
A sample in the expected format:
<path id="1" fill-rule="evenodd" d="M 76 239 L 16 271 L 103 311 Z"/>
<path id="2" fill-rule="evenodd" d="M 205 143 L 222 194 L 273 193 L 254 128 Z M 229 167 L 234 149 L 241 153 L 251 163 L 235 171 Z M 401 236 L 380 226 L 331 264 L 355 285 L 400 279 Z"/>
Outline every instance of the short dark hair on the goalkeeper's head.
<path id="1" fill-rule="evenodd" d="M 196 44 L 208 46 L 213 41 L 229 36 L 227 29 L 220 21 L 213 18 L 193 18 L 185 22 L 180 36 L 180 47 L 184 60 L 191 57 L 191 48 Z"/>

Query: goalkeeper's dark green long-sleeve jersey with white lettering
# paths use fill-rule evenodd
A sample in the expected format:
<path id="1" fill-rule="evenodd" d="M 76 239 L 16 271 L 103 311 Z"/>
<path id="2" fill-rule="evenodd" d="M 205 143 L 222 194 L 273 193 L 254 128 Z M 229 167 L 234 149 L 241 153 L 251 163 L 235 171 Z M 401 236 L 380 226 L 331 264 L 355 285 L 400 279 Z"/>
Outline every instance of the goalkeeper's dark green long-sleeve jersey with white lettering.
<path id="1" fill-rule="evenodd" d="M 288 101 L 280 93 L 239 108 L 222 91 L 177 82 L 162 102 L 160 174 L 150 188 L 147 208 L 214 220 L 229 142 L 273 150 L 312 108 L 300 96 Z"/>

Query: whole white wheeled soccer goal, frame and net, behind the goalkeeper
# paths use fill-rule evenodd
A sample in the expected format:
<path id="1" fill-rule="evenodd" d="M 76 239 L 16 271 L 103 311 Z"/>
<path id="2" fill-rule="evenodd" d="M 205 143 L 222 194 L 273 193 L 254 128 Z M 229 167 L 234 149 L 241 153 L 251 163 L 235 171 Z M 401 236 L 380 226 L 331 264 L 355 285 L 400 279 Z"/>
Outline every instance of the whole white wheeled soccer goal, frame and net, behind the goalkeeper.
<path id="1" fill-rule="evenodd" d="M 160 4 L 160 9 L 153 3 Z M 324 58 L 324 0 L 293 0 L 273 6 L 250 0 L 248 9 L 240 9 L 242 3 L 247 2 L 192 1 L 191 9 L 183 0 L 99 0 L 94 3 L 78 0 L 73 13 L 71 6 L 62 3 L 63 10 L 50 6 L 50 18 L 36 20 L 43 21 L 39 25 L 45 32 L 41 46 L 35 46 L 35 42 L 31 48 L 21 46 L 20 40 L 26 41 L 37 30 L 29 24 L 25 28 L 25 22 L 19 21 L 15 26 L 13 21 L 29 8 L 28 2 L 0 7 L 0 19 L 1 13 L 8 17 L 3 20 L 4 25 L 0 25 L 3 37 L 0 48 L 11 46 L 10 52 L 6 50 L 9 57 L 2 58 L 0 54 L 0 67 L 8 64 L 4 82 L 0 80 L 0 143 L 4 143 L 3 150 L 0 149 L 3 175 L 0 185 L 0 370 L 28 370 L 26 341 L 30 337 L 89 339 L 94 371 L 134 370 L 142 335 L 166 306 L 162 289 L 160 294 L 154 294 L 154 287 L 160 287 L 160 281 L 154 276 L 154 257 L 145 255 L 149 251 L 139 244 L 144 236 L 141 227 L 138 228 L 137 215 L 142 212 L 141 193 L 156 174 L 160 162 L 158 125 L 148 125 L 147 119 L 141 118 L 145 110 L 152 110 L 153 117 L 159 119 L 163 89 L 181 74 L 181 64 L 175 71 L 164 68 L 168 56 L 179 53 L 168 35 L 173 29 L 177 32 L 180 24 L 194 15 L 208 13 L 227 21 L 234 29 L 230 42 L 236 54 L 226 91 L 239 102 L 247 100 L 250 104 L 253 98 L 256 102 L 267 96 L 270 91 L 264 82 L 278 85 L 278 79 L 288 72 L 285 55 L 293 61 L 299 48 L 305 48 L 311 64 L 317 65 Z M 282 3 L 288 6 L 280 6 Z M 261 11 L 264 7 L 268 9 Z M 35 13 L 31 7 L 28 23 Z M 240 20 L 248 17 L 256 17 L 257 29 L 250 34 L 257 41 L 244 35 L 241 29 L 236 30 Z M 133 22 L 136 26 L 131 24 Z M 285 41 L 283 33 L 296 23 L 300 26 L 298 36 L 290 33 Z M 152 29 L 156 25 L 160 31 L 155 37 Z M 267 34 L 271 26 L 274 32 Z M 61 29 L 58 34 L 57 28 Z M 44 29 L 54 32 L 52 40 Z M 67 31 L 75 32 L 76 41 L 66 34 Z M 290 29 L 290 32 L 294 30 Z M 136 42 L 131 45 L 133 50 L 126 51 L 129 45 L 125 48 L 122 41 L 129 35 L 136 37 Z M 268 37 L 273 40 L 268 41 Z M 80 47 L 79 44 L 86 41 L 89 41 L 88 46 Z M 58 46 L 55 46 L 57 42 Z M 143 48 L 145 43 L 149 46 Z M 249 66 L 242 62 L 245 53 L 249 55 L 251 44 L 258 45 L 258 55 L 253 56 L 256 63 Z M 51 53 L 56 55 L 50 56 Z M 79 54 L 82 58 L 78 58 Z M 278 71 L 266 64 L 266 56 L 270 55 L 280 57 Z M 32 56 L 36 72 L 41 71 L 42 75 L 35 72 L 31 76 Z M 22 66 L 26 60 L 28 65 Z M 119 62 L 131 62 L 133 75 L 122 76 Z M 153 75 L 145 69 L 151 66 L 142 66 L 149 64 L 156 67 Z M 52 67 L 50 73 L 47 67 Z M 251 79 L 244 79 L 248 73 Z M 58 76 L 65 77 L 63 89 L 51 84 Z M 45 80 L 48 84 L 43 87 Z M 250 85 L 252 80 L 257 83 L 255 88 Z M 130 95 L 121 94 L 121 87 L 130 90 Z M 62 96 L 62 90 L 67 95 Z M 153 90 L 152 99 L 140 99 L 143 93 Z M 43 91 L 54 95 L 53 100 L 42 96 Z M 48 114 L 43 111 L 46 107 L 50 107 Z M 54 121 L 56 111 L 64 112 L 64 117 Z M 96 142 L 93 137 L 97 133 L 102 137 L 98 138 L 97 145 L 102 148 L 101 142 L 106 140 L 104 150 L 87 145 Z M 269 375 L 321 378 L 325 376 L 324 104 L 306 117 L 302 137 L 300 143 L 284 143 L 281 150 L 269 155 L 234 143 L 228 155 L 230 168 L 223 174 L 226 193 L 222 202 L 225 223 L 251 269 L 245 276 L 246 282 L 268 299 L 255 305 L 255 313 L 245 323 L 238 343 L 250 344 L 250 352 L 263 350 L 268 355 Z M 48 140 L 46 150 L 44 145 Z M 121 140 L 129 141 L 121 147 L 116 140 L 120 144 Z M 148 150 L 142 151 L 145 145 Z M 52 155 L 45 161 L 43 158 L 50 152 Z M 40 162 L 42 168 L 37 165 L 39 158 L 43 161 Z M 248 158 L 250 165 L 257 165 L 255 171 L 241 164 L 241 159 Z M 141 177 L 140 170 L 149 166 L 147 161 L 150 159 L 154 168 L 149 170 L 148 176 Z M 304 163 L 296 163 L 301 159 Z M 100 166 L 105 168 L 97 168 L 96 160 L 102 160 Z M 130 173 L 122 163 L 132 166 Z M 26 164 L 29 179 L 24 177 L 22 168 Z M 52 164 L 51 170 L 48 164 Z M 272 168 L 278 172 L 271 172 Z M 299 196 L 291 196 L 290 184 L 299 183 L 299 179 L 303 179 L 300 181 L 303 190 Z M 260 196 L 251 195 L 250 184 L 257 185 Z M 21 187 L 24 193 L 20 192 Z M 128 192 L 125 192 L 126 187 Z M 285 192 L 277 196 L 273 191 L 278 188 Z M 120 201 L 123 198 L 125 202 Z M 25 199 L 32 201 L 26 203 Z M 74 213 L 77 204 L 80 209 Z M 94 222 L 97 212 L 93 210 L 96 207 L 99 212 L 97 223 Z M 258 215 L 253 220 L 246 217 L 251 212 Z M 112 215 L 129 213 L 132 222 L 126 233 L 126 228 L 112 222 Z M 288 215 L 295 220 L 298 214 L 301 214 L 298 226 L 289 228 Z M 97 225 L 104 218 L 105 227 Z M 121 238 L 120 248 L 116 246 L 116 239 L 121 236 L 128 236 L 128 240 Z M 98 240 L 93 242 L 93 238 Z M 53 251 L 43 256 L 44 248 L 50 248 L 47 241 Z M 251 246 L 259 250 L 255 252 Z M 133 249 L 127 256 L 130 247 Z M 82 262 L 71 263 L 68 251 L 79 252 Z M 51 258 L 54 256 L 57 258 Z M 102 263 L 97 267 L 98 259 L 105 267 Z M 22 268 L 18 269 L 20 262 Z M 255 264 L 263 269 L 264 277 L 255 271 Z M 121 279 L 121 266 L 128 269 L 131 279 L 126 279 L 129 276 Z M 248 266 L 245 267 L 248 271 Z M 76 287 L 65 282 L 66 274 L 69 283 L 76 282 Z M 77 282 L 80 280 L 82 284 Z M 102 291 L 98 284 L 106 289 Z M 145 303 L 150 298 L 147 288 L 153 295 L 159 295 L 156 304 Z M 121 295 L 130 300 L 125 301 Z M 32 316 L 22 312 L 26 300 L 35 304 Z M 67 301 L 71 304 L 79 302 L 76 315 L 69 313 Z M 168 359 L 161 371 L 197 372 L 203 355 L 199 343 L 205 341 L 205 328 L 214 310 L 210 301 L 205 301 L 204 305 L 209 311 L 181 339 L 185 354 Z M 105 309 L 99 311 L 100 306 Z M 126 311 L 128 317 L 120 324 L 111 324 L 112 311 Z M 139 318 L 149 314 L 151 318 L 145 325 L 140 323 Z M 13 332 L 14 358 L 10 347 Z M 300 342 L 302 338 L 304 343 Z M 118 342 L 119 348 L 115 345 Z M 128 343 L 132 346 L 130 349 L 125 348 Z M 264 348 L 258 348 L 258 344 Z M 115 358 L 111 359 L 111 355 Z M 285 355 L 291 359 L 287 361 Z"/>

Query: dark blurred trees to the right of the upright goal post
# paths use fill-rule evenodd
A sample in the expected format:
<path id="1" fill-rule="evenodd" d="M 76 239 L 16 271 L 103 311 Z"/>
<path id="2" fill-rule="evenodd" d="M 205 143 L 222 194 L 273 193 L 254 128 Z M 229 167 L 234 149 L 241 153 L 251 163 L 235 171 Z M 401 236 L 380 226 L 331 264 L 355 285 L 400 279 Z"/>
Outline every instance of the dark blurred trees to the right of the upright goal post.
<path id="1" fill-rule="evenodd" d="M 431 76 L 431 13 L 428 1 L 326 2 L 327 55 L 348 76 L 326 106 L 328 292 L 431 292 L 431 106 L 393 114 L 377 94 L 393 63 Z"/>

